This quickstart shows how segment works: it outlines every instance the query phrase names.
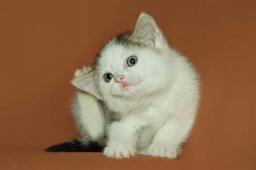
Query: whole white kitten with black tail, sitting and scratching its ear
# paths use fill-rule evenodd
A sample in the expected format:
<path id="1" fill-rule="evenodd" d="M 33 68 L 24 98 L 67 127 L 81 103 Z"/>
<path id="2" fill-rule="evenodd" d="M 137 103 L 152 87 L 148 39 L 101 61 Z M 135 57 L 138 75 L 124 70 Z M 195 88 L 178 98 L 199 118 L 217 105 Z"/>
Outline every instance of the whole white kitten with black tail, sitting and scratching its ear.
<path id="1" fill-rule="evenodd" d="M 72 84 L 81 139 L 46 151 L 103 151 L 116 159 L 181 153 L 199 104 L 199 79 L 150 15 L 142 12 L 134 31 L 110 40 L 94 67 L 76 70 Z"/>

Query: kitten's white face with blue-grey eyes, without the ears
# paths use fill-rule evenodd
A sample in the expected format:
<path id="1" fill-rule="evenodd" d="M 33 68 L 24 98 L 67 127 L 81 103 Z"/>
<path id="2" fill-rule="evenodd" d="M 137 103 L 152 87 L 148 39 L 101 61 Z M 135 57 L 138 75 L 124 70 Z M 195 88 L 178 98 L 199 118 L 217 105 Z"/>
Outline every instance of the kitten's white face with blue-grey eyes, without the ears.
<path id="1" fill-rule="evenodd" d="M 157 90 L 164 65 L 149 46 L 123 46 L 110 41 L 98 58 L 98 88 L 102 97 L 140 97 Z M 157 68 L 157 69 L 156 69 Z"/>

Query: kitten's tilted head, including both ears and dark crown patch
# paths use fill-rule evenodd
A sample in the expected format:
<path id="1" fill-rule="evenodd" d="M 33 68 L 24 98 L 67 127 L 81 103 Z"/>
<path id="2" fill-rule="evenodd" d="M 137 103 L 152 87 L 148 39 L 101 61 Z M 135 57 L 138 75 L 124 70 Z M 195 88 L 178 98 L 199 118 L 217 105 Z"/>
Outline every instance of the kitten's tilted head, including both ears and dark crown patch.
<path id="1" fill-rule="evenodd" d="M 110 40 L 98 55 L 95 69 L 72 84 L 104 101 L 154 93 L 164 88 L 170 76 L 169 50 L 155 20 L 142 13 L 134 31 Z"/>

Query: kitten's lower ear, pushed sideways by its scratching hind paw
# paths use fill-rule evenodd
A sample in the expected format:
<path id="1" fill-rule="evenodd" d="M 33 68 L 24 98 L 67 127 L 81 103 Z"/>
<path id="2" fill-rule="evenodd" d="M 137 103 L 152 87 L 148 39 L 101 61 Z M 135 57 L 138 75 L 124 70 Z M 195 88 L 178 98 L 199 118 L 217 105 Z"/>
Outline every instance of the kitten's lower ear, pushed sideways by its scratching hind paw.
<path id="1" fill-rule="evenodd" d="M 90 71 L 88 74 L 77 76 L 71 81 L 71 83 L 76 88 L 96 96 L 97 99 L 101 99 L 100 91 L 97 86 L 96 70 Z"/>

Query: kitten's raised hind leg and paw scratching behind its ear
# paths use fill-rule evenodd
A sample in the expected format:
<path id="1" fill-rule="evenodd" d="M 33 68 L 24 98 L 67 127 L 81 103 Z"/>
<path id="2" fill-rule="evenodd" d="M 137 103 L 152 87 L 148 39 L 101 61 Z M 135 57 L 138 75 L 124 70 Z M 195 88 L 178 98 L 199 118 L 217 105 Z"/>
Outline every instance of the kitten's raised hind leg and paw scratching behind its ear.
<path id="1" fill-rule="evenodd" d="M 83 67 L 75 71 L 75 77 L 87 74 L 92 69 Z M 101 106 L 95 96 L 76 90 L 75 109 L 73 113 L 80 130 L 80 135 L 85 139 L 97 141 L 104 135 L 105 118 Z M 89 137 L 88 137 L 89 134 Z"/>

